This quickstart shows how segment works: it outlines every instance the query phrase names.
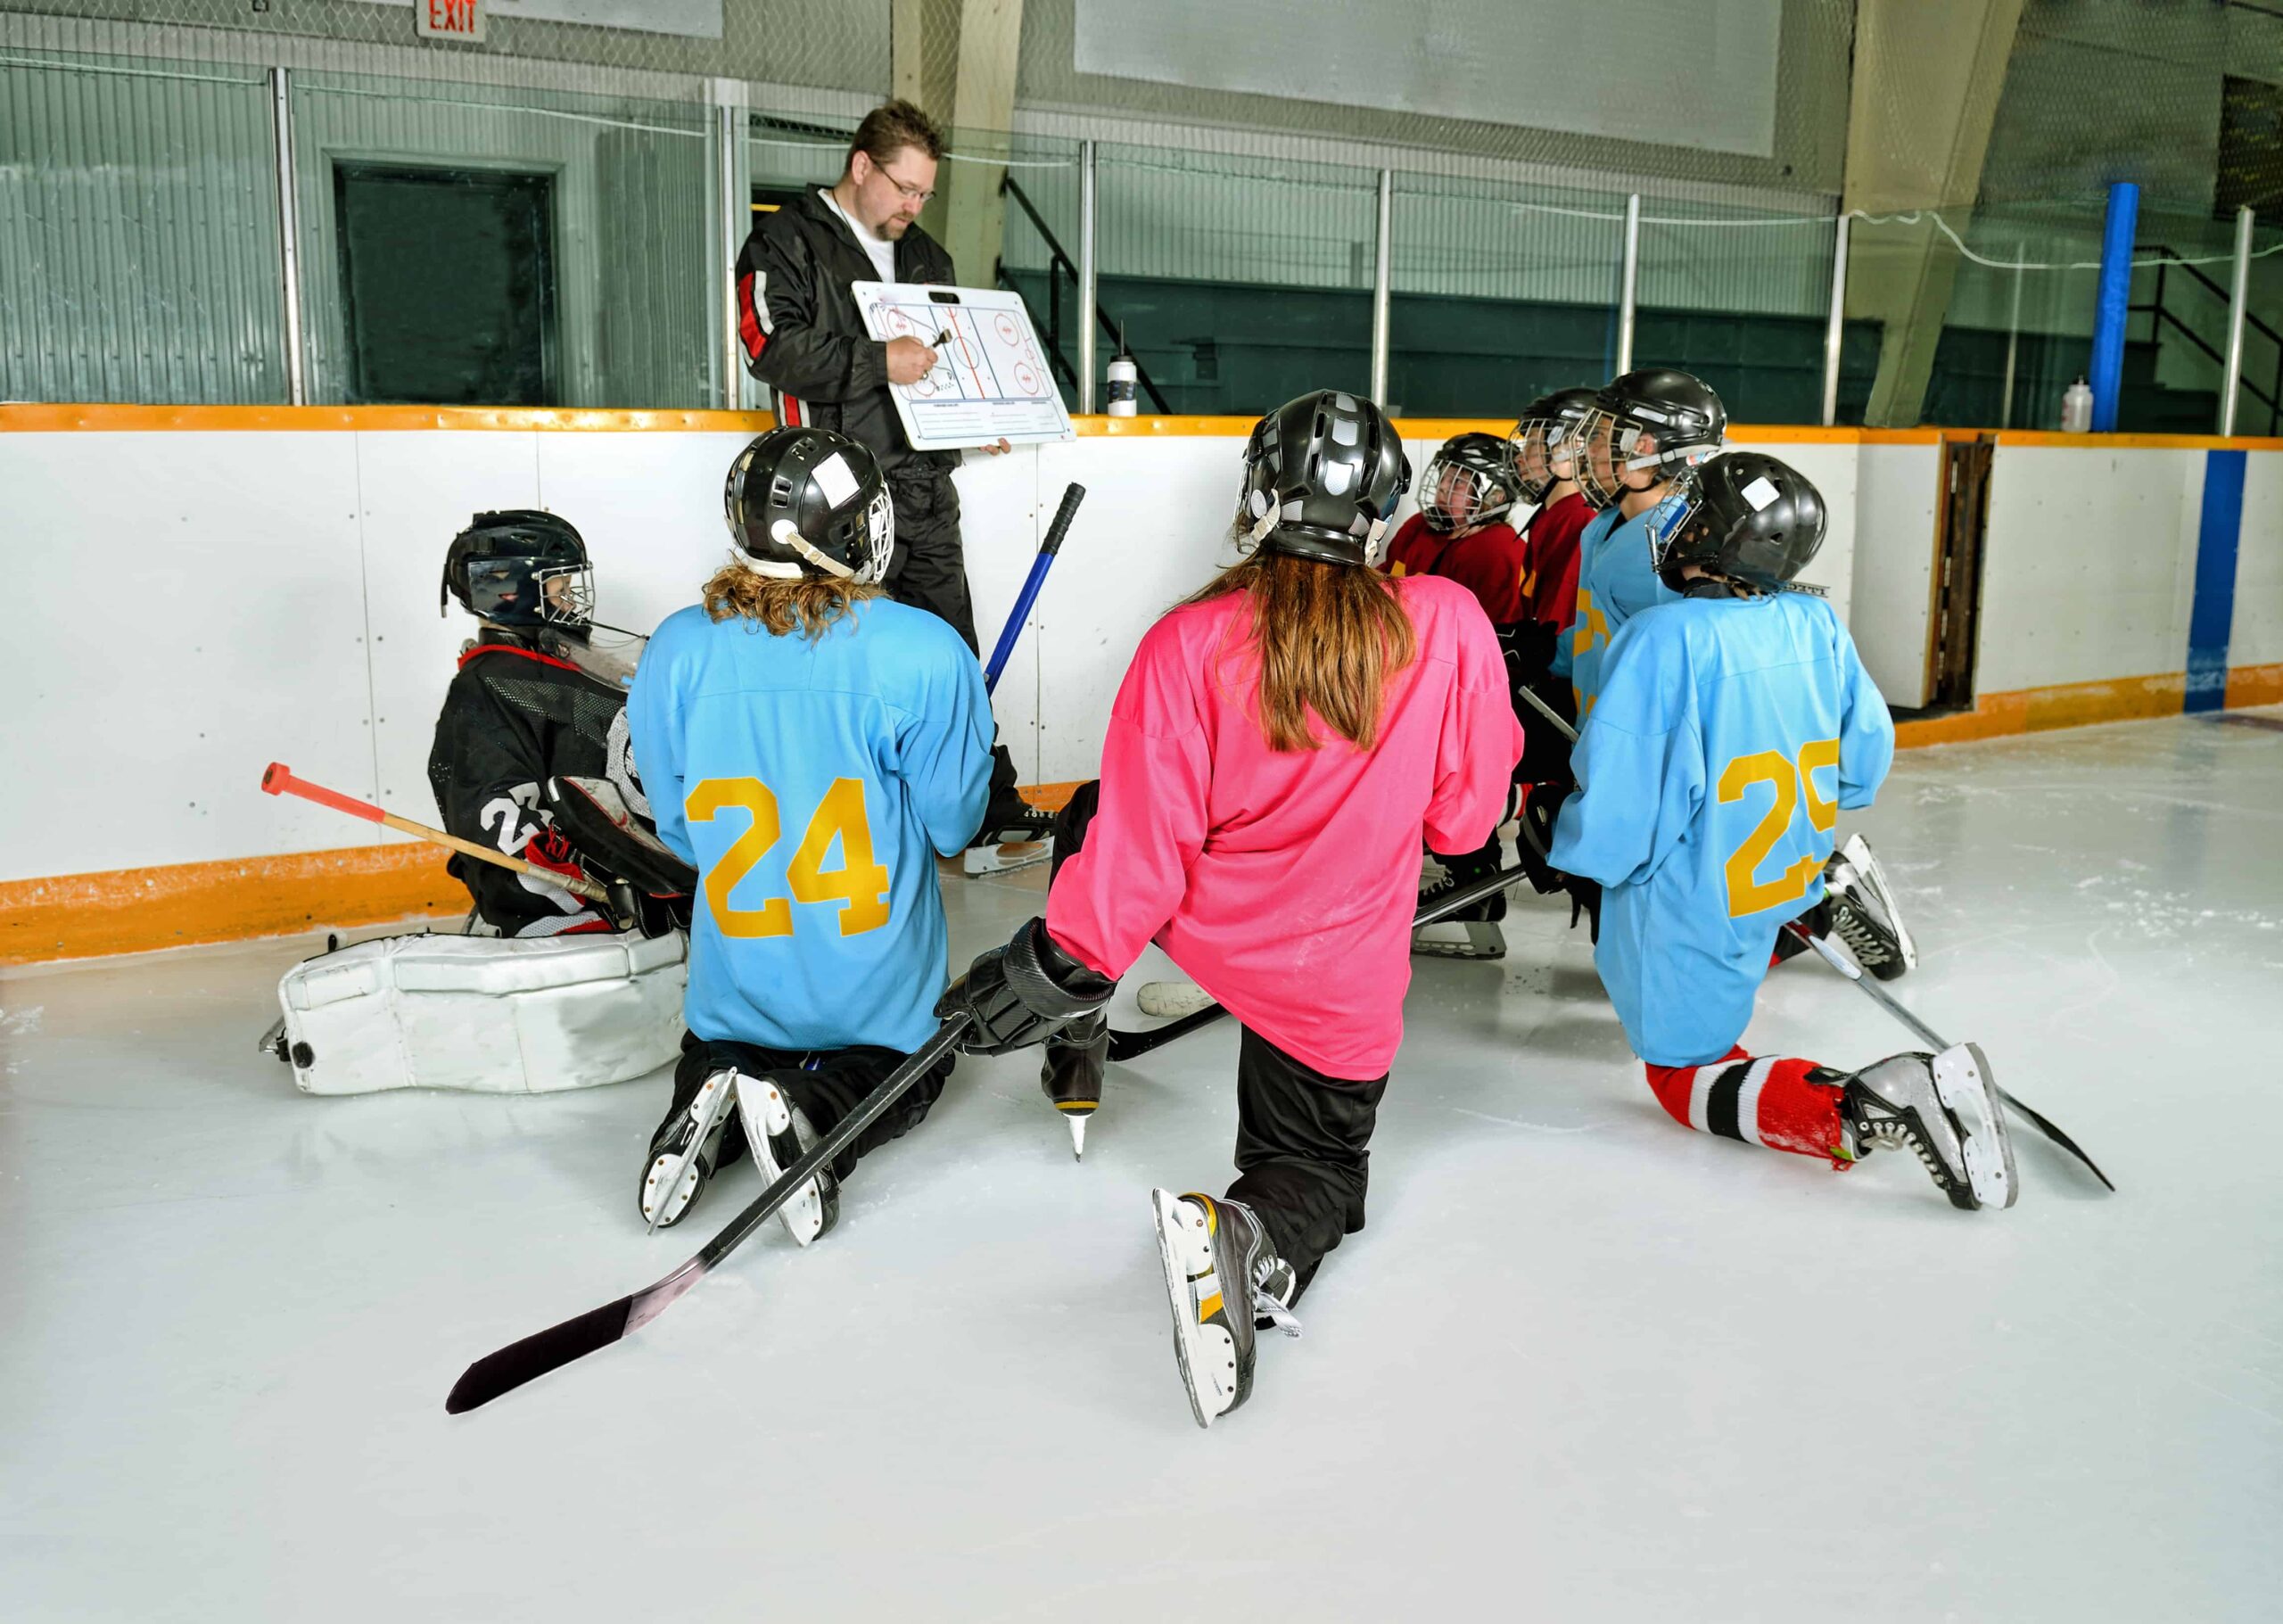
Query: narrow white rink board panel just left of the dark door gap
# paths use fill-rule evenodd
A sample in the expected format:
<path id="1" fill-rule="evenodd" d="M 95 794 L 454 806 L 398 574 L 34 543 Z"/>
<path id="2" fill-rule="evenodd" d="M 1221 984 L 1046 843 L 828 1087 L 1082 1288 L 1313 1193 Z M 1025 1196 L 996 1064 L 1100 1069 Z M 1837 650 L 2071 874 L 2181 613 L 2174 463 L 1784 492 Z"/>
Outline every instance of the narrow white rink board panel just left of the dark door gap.
<path id="1" fill-rule="evenodd" d="M 1909 710 L 1927 704 L 1941 477 L 1941 445 L 1856 452 L 1856 598 L 1847 624 L 1879 692 Z"/>

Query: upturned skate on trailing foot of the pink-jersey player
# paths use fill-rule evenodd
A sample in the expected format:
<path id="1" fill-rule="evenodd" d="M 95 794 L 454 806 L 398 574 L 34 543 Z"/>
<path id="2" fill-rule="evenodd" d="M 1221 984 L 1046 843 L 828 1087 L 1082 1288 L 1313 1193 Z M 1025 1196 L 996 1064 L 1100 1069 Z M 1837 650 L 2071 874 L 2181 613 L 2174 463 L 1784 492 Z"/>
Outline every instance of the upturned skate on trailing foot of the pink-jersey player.
<path id="1" fill-rule="evenodd" d="M 1171 1190 L 1151 1190 L 1148 1199 L 1173 1311 L 1173 1357 L 1189 1391 L 1189 1414 L 1210 1428 L 1215 1416 L 1251 1398 L 1253 1329 L 1276 1325 L 1299 1336 L 1290 1309 L 1292 1268 L 1269 1252 L 1260 1220 L 1242 1201 Z"/>

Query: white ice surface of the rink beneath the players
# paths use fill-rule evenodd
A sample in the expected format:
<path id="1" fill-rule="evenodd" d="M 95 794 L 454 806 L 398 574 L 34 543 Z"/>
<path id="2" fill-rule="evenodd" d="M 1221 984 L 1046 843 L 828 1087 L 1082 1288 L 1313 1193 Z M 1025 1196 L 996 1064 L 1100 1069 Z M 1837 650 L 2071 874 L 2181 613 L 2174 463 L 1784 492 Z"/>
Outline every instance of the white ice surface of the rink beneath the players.
<path id="1" fill-rule="evenodd" d="M 2283 733 L 1904 754 L 1845 829 L 1895 994 L 2018 1131 L 1957 1213 L 1653 1103 L 1562 900 L 1418 962 L 1372 1222 L 1199 1432 L 1146 1192 L 1219 1188 L 1235 1028 L 1114 1067 L 1073 1163 L 961 1062 L 840 1229 L 470 1416 L 459 1370 L 648 1284 L 662 1078 L 304 1099 L 253 1039 L 317 939 L 0 982 L 9 1619 L 2267 1619 L 2283 1587 Z M 950 879 L 954 959 L 1041 873 Z M 1151 955 L 1130 989 L 1169 975 Z M 1906 1046 L 1815 959 L 1746 1039 Z"/>

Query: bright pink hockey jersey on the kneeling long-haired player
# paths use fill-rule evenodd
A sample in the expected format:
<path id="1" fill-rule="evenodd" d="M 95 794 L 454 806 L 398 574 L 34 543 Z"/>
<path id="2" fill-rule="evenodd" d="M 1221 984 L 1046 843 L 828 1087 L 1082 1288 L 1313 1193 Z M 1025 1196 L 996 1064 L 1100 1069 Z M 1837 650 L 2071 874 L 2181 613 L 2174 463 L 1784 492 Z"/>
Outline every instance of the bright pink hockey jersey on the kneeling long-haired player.
<path id="1" fill-rule="evenodd" d="M 1523 751 L 1475 596 L 1436 576 L 1393 587 L 1418 658 L 1388 681 L 1370 751 L 1322 722 L 1317 749 L 1269 749 L 1244 594 L 1157 621 L 1110 708 L 1100 811 L 1046 905 L 1094 971 L 1123 975 L 1155 941 L 1336 1078 L 1377 1078 L 1402 1046 L 1420 836 L 1477 850 Z"/>

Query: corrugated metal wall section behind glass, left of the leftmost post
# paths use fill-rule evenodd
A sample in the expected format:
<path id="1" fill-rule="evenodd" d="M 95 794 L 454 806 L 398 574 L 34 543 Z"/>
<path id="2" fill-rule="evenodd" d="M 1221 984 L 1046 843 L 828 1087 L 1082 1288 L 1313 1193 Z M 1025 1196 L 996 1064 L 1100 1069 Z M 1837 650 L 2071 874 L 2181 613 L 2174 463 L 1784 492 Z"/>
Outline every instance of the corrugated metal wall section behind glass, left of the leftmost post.
<path id="1" fill-rule="evenodd" d="M 0 62 L 0 397 L 285 397 L 260 69 Z"/>

